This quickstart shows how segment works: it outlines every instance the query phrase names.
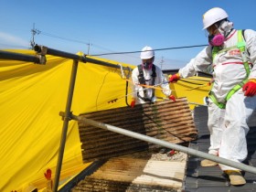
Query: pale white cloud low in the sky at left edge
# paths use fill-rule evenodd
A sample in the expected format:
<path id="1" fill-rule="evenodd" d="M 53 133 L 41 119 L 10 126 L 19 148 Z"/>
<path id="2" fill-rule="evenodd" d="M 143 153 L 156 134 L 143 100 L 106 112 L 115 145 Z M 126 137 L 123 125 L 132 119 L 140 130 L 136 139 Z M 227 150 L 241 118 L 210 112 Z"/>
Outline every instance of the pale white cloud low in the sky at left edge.
<path id="1" fill-rule="evenodd" d="M 0 48 L 28 48 L 29 42 L 21 37 L 16 37 L 0 31 Z"/>

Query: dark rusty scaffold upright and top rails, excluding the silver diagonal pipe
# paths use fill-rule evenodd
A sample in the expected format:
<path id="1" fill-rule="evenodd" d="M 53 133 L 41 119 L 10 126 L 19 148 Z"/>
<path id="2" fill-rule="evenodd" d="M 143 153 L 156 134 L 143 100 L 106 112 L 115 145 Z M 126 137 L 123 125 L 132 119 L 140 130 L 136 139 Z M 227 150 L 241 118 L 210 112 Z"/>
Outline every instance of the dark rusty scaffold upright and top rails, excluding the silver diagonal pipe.
<path id="1" fill-rule="evenodd" d="M 62 165 L 64 150 L 65 150 L 69 121 L 71 120 L 70 110 L 71 110 L 71 104 L 73 99 L 73 92 L 74 92 L 79 62 L 82 62 L 82 63 L 90 62 L 92 64 L 98 64 L 105 67 L 123 69 L 128 71 L 131 71 L 132 69 L 129 67 L 123 67 L 121 65 L 114 65 L 112 63 L 101 61 L 98 59 L 87 58 L 86 55 L 79 56 L 76 54 L 71 54 L 68 52 L 60 51 L 53 48 L 48 48 L 45 46 L 36 45 L 34 47 L 34 50 L 37 52 L 36 56 L 0 50 L 0 59 L 20 60 L 20 61 L 26 61 L 26 62 L 33 62 L 35 64 L 41 64 L 41 65 L 45 65 L 47 63 L 46 55 L 52 55 L 52 56 L 73 60 L 73 65 L 72 65 L 72 70 L 71 70 L 70 80 L 69 80 L 69 91 L 68 91 L 68 98 L 66 102 L 65 115 L 62 116 L 63 126 L 62 126 L 62 133 L 61 133 L 61 139 L 59 144 L 58 163 L 56 166 L 56 173 L 55 173 L 54 182 L 53 182 L 53 192 L 57 192 L 59 187 L 59 177 L 60 177 L 61 165 Z"/>

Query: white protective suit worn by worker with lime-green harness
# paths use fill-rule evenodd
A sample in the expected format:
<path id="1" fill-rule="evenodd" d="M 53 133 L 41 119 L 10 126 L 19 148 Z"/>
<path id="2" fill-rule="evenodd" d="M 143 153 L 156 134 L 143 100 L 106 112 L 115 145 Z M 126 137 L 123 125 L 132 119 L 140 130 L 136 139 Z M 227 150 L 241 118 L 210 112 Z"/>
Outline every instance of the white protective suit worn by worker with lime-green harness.
<path id="1" fill-rule="evenodd" d="M 250 79 L 256 79 L 256 32 L 244 31 L 246 56 L 251 66 Z M 217 101 L 223 102 L 228 92 L 242 80 L 247 73 L 241 60 L 240 49 L 237 48 L 238 30 L 232 29 L 225 38 L 223 49 L 213 59 L 212 46 L 204 48 L 191 59 L 186 67 L 179 69 L 181 78 L 187 78 L 204 71 L 212 65 L 214 84 L 212 92 Z M 247 157 L 246 134 L 249 131 L 248 120 L 256 109 L 256 96 L 246 97 L 242 89 L 235 92 L 227 101 L 226 109 L 220 109 L 213 101 L 208 104 L 208 129 L 210 131 L 209 154 L 242 162 Z M 222 170 L 237 170 L 228 165 L 219 165 Z"/>

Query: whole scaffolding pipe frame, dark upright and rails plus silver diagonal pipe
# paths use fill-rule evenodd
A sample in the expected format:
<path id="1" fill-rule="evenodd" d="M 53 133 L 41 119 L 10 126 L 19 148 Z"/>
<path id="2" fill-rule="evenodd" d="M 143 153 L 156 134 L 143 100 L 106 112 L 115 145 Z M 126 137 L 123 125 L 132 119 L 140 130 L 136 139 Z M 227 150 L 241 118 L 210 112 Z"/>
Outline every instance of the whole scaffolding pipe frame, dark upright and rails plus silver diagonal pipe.
<path id="1" fill-rule="evenodd" d="M 66 58 L 66 59 L 73 59 L 73 66 L 72 66 L 72 71 L 70 74 L 69 92 L 68 92 L 68 98 L 67 98 L 67 103 L 66 103 L 66 109 L 65 109 L 65 112 L 59 112 L 59 115 L 62 116 L 63 127 L 62 127 L 61 140 L 60 140 L 60 145 L 59 145 L 59 157 L 58 157 L 58 163 L 57 163 L 57 168 L 56 168 L 56 175 L 55 175 L 54 183 L 53 183 L 53 192 L 57 192 L 58 187 L 59 187 L 59 176 L 60 176 L 60 171 L 61 171 L 61 165 L 62 165 L 64 150 L 65 150 L 66 137 L 67 137 L 70 120 L 76 120 L 76 121 L 81 121 L 83 123 L 89 123 L 93 126 L 96 126 L 101 129 L 105 129 L 105 130 L 108 130 L 108 131 L 111 131 L 114 133 L 121 133 L 126 136 L 130 136 L 130 137 L 133 137 L 136 139 L 143 140 L 145 142 L 149 142 L 152 144 L 159 144 L 166 148 L 172 148 L 177 151 L 187 153 L 189 155 L 195 155 L 198 157 L 209 159 L 211 161 L 218 162 L 219 164 L 229 165 L 229 166 L 250 172 L 252 174 L 256 174 L 256 168 L 251 165 L 244 165 L 244 164 L 234 162 L 229 159 L 225 159 L 225 158 L 222 158 L 222 157 L 219 157 L 216 155 L 209 155 L 207 153 L 200 152 L 195 149 L 190 149 L 185 146 L 181 146 L 178 144 L 171 144 L 169 142 L 155 139 L 153 137 L 149 137 L 144 134 L 134 133 L 134 132 L 131 132 L 128 130 L 124 130 L 122 128 L 112 126 L 110 124 L 100 123 L 100 122 L 96 122 L 96 121 L 93 121 L 90 119 L 82 118 L 80 116 L 73 115 L 72 112 L 70 112 L 70 109 L 71 109 L 73 91 L 74 91 L 74 87 L 75 87 L 75 81 L 76 81 L 76 75 L 77 75 L 79 62 L 80 61 L 83 63 L 91 62 L 93 64 L 98 64 L 98 65 L 102 65 L 102 66 L 106 66 L 106 67 L 112 67 L 112 68 L 116 68 L 116 69 L 120 69 L 121 67 L 118 65 L 114 65 L 112 63 L 98 60 L 98 59 L 87 58 L 86 55 L 79 56 L 79 55 L 63 52 L 60 50 L 47 48 L 44 46 L 36 45 L 35 51 L 37 52 L 37 56 L 31 56 L 31 55 L 26 55 L 26 54 L 17 54 L 14 52 L 0 50 L 0 59 L 21 60 L 21 61 L 27 61 L 27 62 L 34 62 L 36 64 L 46 64 L 46 62 L 47 62 L 46 58 L 45 58 L 46 55 L 52 55 L 52 56 L 57 56 L 57 57 L 61 57 L 61 58 Z M 123 69 L 131 71 L 131 69 L 129 67 L 123 67 Z"/>

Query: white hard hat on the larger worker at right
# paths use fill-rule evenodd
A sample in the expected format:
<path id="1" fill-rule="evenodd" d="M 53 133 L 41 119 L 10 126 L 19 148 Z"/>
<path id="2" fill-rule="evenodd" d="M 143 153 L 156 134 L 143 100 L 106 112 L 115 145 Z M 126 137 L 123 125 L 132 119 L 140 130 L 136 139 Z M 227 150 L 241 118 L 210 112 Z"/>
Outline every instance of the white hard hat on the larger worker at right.
<path id="1" fill-rule="evenodd" d="M 224 18 L 228 18 L 228 14 L 222 8 L 214 7 L 214 8 L 209 9 L 203 15 L 203 24 L 204 24 L 203 29 L 210 27 L 211 25 L 215 24 L 216 22 L 218 22 Z"/>

